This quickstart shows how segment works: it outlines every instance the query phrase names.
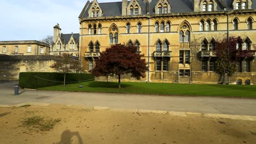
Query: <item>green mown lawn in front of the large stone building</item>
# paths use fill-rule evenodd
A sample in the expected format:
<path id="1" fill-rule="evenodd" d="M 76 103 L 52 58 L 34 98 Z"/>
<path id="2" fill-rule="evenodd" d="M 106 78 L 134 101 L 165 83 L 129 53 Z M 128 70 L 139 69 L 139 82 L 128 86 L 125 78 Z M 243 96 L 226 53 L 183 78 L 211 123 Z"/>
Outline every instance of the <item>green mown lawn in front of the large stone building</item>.
<path id="1" fill-rule="evenodd" d="M 83 85 L 83 88 L 79 88 Z M 80 82 L 39 88 L 50 91 L 77 91 L 77 92 L 107 92 L 107 93 L 137 93 L 161 95 L 203 95 L 220 97 L 251 97 L 256 98 L 256 86 L 250 85 L 197 85 L 178 83 L 146 83 L 121 82 L 118 89 L 117 82 Z"/>

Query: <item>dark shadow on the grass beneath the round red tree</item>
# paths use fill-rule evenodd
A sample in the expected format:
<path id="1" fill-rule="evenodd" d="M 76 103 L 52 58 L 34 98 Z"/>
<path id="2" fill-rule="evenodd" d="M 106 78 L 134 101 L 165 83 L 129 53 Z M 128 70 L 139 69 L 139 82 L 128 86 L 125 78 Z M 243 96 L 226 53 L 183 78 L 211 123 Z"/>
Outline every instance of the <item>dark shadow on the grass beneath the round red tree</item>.
<path id="1" fill-rule="evenodd" d="M 132 85 L 127 85 L 121 82 L 121 88 L 131 87 Z M 88 87 L 101 87 L 101 88 L 118 88 L 118 82 L 91 82 Z"/>

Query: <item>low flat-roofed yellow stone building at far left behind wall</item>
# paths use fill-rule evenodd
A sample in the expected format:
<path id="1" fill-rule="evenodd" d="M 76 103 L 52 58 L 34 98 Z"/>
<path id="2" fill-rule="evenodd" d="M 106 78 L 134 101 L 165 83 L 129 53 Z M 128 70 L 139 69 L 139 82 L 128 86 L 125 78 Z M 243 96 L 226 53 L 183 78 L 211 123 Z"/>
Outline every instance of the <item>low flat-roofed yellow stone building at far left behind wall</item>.
<path id="1" fill-rule="evenodd" d="M 49 49 L 37 40 L 0 41 L 0 55 L 49 55 Z"/>

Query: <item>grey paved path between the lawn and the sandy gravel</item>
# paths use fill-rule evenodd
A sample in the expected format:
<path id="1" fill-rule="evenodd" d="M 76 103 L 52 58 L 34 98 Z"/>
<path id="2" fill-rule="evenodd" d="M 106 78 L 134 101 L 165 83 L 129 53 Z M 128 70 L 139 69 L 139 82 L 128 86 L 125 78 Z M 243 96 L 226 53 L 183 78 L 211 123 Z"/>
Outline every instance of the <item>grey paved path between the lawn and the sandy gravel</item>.
<path id="1" fill-rule="evenodd" d="M 26 89 L 20 89 L 20 94 L 14 95 L 14 83 L 16 82 L 0 82 L 0 105 L 36 102 L 256 116 L 256 99 L 33 91 Z"/>

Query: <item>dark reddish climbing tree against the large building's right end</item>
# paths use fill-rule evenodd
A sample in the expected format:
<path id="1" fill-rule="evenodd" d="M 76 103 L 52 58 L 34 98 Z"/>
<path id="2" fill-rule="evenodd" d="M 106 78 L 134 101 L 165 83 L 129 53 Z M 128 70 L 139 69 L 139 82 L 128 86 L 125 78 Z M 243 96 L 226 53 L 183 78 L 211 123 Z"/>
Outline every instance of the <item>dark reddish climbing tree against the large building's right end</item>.
<path id="1" fill-rule="evenodd" d="M 223 76 L 223 82 L 225 81 L 225 74 L 231 76 L 235 73 L 237 61 L 254 56 L 255 50 L 242 50 L 242 47 L 238 46 L 241 44 L 242 40 L 235 37 L 217 41 L 216 72 Z"/>

